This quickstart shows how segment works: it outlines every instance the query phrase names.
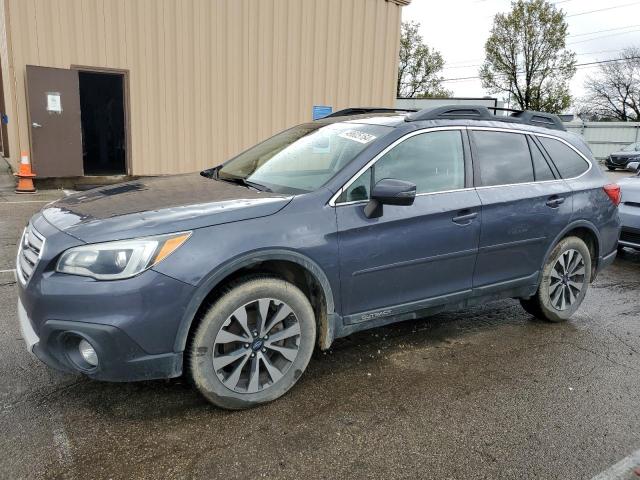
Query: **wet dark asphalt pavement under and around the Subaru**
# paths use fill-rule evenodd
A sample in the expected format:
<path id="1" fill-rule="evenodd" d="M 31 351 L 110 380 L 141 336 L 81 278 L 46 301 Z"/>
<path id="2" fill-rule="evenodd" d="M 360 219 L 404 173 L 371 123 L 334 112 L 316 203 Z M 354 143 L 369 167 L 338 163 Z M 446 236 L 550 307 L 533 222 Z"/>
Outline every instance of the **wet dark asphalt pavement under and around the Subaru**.
<path id="1" fill-rule="evenodd" d="M 362 332 L 227 412 L 181 379 L 100 383 L 27 353 L 16 242 L 61 195 L 0 189 L 0 478 L 589 479 L 640 449 L 640 253 L 567 323 L 504 300 Z"/>

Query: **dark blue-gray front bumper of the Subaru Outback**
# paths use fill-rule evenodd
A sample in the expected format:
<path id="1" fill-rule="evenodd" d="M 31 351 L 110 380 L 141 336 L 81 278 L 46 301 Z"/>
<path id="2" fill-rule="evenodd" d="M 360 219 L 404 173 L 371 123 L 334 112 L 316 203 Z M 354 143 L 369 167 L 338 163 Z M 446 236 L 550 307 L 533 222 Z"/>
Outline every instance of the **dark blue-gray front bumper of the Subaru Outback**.
<path id="1" fill-rule="evenodd" d="M 59 253 L 80 241 L 42 215 L 34 216 L 30 227 L 42 245 L 46 240 L 28 278 L 19 275 L 17 281 L 18 321 L 30 352 L 52 368 L 99 380 L 181 374 L 175 337 L 195 287 L 153 269 L 114 281 L 57 273 Z M 96 350 L 97 367 L 78 361 L 80 339 Z"/>

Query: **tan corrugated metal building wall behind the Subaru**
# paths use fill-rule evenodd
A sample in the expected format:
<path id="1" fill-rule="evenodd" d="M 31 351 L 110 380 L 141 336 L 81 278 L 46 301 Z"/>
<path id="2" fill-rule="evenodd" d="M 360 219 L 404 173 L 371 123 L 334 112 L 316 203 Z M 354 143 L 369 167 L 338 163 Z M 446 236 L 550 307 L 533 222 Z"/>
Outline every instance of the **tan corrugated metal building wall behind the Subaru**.
<path id="1" fill-rule="evenodd" d="M 0 1 L 14 164 L 27 64 L 128 70 L 133 175 L 218 164 L 313 105 L 394 106 L 405 0 Z"/>

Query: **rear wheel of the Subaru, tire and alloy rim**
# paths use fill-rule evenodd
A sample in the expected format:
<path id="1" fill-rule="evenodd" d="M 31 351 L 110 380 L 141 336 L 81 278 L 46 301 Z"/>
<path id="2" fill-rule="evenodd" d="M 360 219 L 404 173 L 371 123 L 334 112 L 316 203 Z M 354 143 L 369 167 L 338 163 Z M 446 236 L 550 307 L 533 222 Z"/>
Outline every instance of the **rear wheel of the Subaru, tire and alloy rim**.
<path id="1" fill-rule="evenodd" d="M 564 265 L 567 268 L 564 268 Z M 520 304 L 531 315 L 563 322 L 578 310 L 591 281 L 591 254 L 578 237 L 562 239 L 542 268 L 535 295 Z"/>

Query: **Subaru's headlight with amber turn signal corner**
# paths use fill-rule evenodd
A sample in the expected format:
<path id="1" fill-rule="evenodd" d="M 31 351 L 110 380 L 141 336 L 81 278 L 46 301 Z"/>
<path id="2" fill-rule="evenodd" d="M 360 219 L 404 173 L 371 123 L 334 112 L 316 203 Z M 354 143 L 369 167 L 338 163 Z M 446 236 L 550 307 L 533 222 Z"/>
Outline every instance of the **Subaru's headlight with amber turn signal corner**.
<path id="1" fill-rule="evenodd" d="M 180 232 L 70 248 L 58 260 L 56 270 L 97 280 L 133 277 L 167 258 L 190 235 Z"/>

